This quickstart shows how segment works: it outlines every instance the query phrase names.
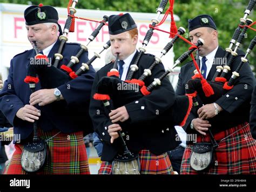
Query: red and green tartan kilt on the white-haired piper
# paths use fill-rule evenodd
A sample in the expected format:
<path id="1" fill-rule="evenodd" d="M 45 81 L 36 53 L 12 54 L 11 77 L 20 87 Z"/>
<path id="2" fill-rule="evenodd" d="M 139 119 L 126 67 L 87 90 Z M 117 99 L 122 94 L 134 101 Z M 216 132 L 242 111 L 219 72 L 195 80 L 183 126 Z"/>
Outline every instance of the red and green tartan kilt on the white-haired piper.
<path id="1" fill-rule="evenodd" d="M 57 130 L 43 132 L 38 129 L 41 139 L 49 139 Z M 6 166 L 4 174 L 28 174 L 21 166 L 23 145 L 15 144 L 15 152 L 10 163 Z M 48 159 L 44 167 L 32 174 L 90 174 L 83 132 L 62 133 L 48 141 Z"/>

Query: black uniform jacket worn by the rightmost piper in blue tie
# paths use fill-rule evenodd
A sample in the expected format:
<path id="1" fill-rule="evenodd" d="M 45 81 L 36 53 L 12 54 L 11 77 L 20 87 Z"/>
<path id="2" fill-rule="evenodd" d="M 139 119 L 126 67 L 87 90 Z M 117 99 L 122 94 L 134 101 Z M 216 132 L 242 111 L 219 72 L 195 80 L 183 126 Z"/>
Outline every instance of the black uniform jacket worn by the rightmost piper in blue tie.
<path id="1" fill-rule="evenodd" d="M 222 64 L 221 61 L 223 61 L 223 64 L 225 64 L 224 63 L 225 59 L 223 59 L 225 53 L 226 52 L 221 47 L 218 48 L 215 54 L 215 65 L 212 65 L 210 73 L 207 76 L 207 81 L 212 80 L 216 71 L 216 66 L 221 65 Z M 227 80 L 230 79 L 232 72 L 235 69 L 237 69 L 239 63 L 241 62 L 241 59 L 240 59 L 241 56 L 244 56 L 244 53 L 242 51 L 238 51 L 237 53 L 238 55 L 233 60 L 231 71 L 226 76 Z M 227 58 L 227 61 L 228 59 L 229 58 Z M 192 61 L 186 63 L 183 67 L 181 67 L 178 86 L 176 90 L 177 95 L 185 94 L 186 83 L 194 75 L 193 71 L 195 69 L 196 68 L 194 67 L 194 64 Z M 221 111 L 217 115 L 218 117 L 215 116 L 213 118 L 220 118 L 220 116 L 227 116 L 229 115 L 228 113 L 231 113 L 232 120 L 228 120 L 228 122 L 226 123 L 219 123 L 219 124 L 217 123 L 217 126 L 212 126 L 211 130 L 213 133 L 223 131 L 235 125 L 249 121 L 250 101 L 251 101 L 252 90 L 254 87 L 254 76 L 248 62 L 244 63 L 239 74 L 240 76 L 235 82 L 234 87 L 231 90 L 227 91 L 227 93 L 221 96 L 217 101 L 215 101 L 215 103 L 219 104 L 221 108 L 224 109 L 224 111 Z M 200 102 L 200 98 L 198 98 L 198 101 L 199 101 L 199 105 L 202 106 L 202 103 Z M 187 122 L 183 126 L 184 130 L 187 133 L 190 133 L 190 132 L 198 133 L 197 131 L 192 130 L 190 128 L 192 119 L 197 117 L 198 115 L 196 113 L 196 110 L 192 108 L 192 111 L 188 116 Z M 211 122 L 211 119 L 208 119 L 208 120 Z"/>

